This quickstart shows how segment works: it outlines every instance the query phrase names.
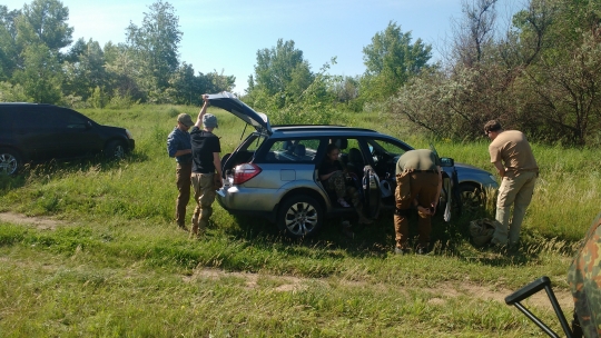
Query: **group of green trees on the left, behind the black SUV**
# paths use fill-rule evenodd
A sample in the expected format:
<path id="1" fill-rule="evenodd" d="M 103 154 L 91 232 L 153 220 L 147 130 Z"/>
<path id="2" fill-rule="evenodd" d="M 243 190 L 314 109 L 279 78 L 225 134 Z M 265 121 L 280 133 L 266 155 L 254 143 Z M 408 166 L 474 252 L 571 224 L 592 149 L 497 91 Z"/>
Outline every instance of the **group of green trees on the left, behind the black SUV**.
<path id="1" fill-rule="evenodd" d="M 0 6 L 0 101 L 199 105 L 199 92 L 234 88 L 233 76 L 195 72 L 180 62 L 183 32 L 168 2 L 154 2 L 139 26 L 130 23 L 125 43 L 73 43 L 68 19 L 69 9 L 58 0 L 35 0 L 16 10 Z"/>

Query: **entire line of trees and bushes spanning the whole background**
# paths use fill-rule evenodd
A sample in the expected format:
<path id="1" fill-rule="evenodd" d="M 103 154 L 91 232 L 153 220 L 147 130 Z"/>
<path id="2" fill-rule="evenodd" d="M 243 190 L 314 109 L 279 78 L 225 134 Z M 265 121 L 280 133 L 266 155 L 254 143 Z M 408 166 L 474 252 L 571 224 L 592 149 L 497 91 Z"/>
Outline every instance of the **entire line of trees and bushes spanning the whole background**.
<path id="1" fill-rule="evenodd" d="M 463 140 L 499 119 L 539 141 L 600 145 L 601 2 L 526 0 L 505 27 L 502 2 L 463 0 L 437 62 L 431 44 L 390 21 L 363 48 L 366 69 L 356 77 L 329 73 L 336 58 L 314 71 L 293 40 L 279 39 L 257 51 L 242 99 L 274 123 L 342 123 L 342 110 L 377 111 L 390 125 Z M 125 43 L 104 47 L 72 43 L 68 14 L 58 0 L 0 6 L 0 101 L 199 105 L 200 93 L 234 88 L 233 76 L 180 62 L 183 33 L 168 2 L 130 23 Z"/>

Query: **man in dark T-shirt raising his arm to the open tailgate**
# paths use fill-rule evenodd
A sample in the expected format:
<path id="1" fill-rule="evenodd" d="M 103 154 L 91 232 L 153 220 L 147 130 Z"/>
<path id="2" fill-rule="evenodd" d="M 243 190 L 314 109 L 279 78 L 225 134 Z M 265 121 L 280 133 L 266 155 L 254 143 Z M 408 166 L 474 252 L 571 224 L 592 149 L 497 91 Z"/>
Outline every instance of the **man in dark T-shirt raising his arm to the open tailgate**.
<path id="1" fill-rule="evenodd" d="M 194 199 L 196 208 L 193 215 L 193 227 L 190 237 L 201 236 L 213 215 L 213 202 L 215 201 L 215 187 L 223 186 L 221 178 L 221 145 L 219 138 L 213 133 L 218 127 L 217 118 L 207 112 L 208 96 L 204 95 L 205 103 L 198 113 L 198 119 L 190 130 L 191 140 L 191 183 L 194 187 Z"/>

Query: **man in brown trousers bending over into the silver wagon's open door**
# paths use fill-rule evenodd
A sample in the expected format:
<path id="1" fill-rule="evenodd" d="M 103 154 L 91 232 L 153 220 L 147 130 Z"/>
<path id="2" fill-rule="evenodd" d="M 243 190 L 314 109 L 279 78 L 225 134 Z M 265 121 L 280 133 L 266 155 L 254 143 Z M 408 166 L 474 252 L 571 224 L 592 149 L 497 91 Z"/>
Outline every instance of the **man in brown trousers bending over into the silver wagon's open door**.
<path id="1" fill-rule="evenodd" d="M 430 247 L 432 216 L 442 190 L 442 168 L 439 156 L 430 149 L 410 150 L 396 162 L 396 190 L 394 192 L 395 254 L 408 252 L 408 215 L 417 209 L 418 233 L 416 252 L 426 254 Z"/>

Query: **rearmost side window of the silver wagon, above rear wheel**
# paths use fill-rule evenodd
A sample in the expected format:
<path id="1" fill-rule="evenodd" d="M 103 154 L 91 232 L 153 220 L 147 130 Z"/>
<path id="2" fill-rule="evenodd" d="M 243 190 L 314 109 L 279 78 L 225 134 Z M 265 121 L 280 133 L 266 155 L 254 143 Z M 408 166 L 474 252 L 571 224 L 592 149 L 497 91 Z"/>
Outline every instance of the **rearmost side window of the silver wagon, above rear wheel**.
<path id="1" fill-rule="evenodd" d="M 319 139 L 284 139 L 276 140 L 269 147 L 266 162 L 315 162 Z"/>

